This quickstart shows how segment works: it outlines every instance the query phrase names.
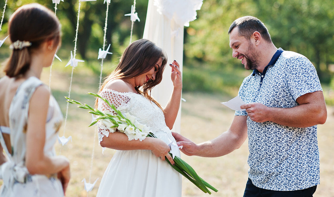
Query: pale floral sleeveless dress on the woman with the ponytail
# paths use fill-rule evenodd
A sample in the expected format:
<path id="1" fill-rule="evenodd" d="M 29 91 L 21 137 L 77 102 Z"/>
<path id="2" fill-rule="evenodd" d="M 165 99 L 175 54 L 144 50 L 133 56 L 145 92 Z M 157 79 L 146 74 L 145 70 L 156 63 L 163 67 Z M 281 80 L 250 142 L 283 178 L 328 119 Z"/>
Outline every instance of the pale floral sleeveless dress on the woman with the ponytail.
<path id="1" fill-rule="evenodd" d="M 64 196 L 61 183 L 57 179 L 56 174 L 30 175 L 25 167 L 26 128 L 30 98 L 36 88 L 42 84 L 36 77 L 28 78 L 17 88 L 16 94 L 10 104 L 9 129 L 12 155 L 9 155 L 9 160 L 0 166 L 0 176 L 3 179 L 3 185 L 0 190 L 1 197 Z M 57 131 L 62 119 L 59 105 L 51 95 L 45 124 L 45 155 L 55 155 L 54 143 L 57 139 Z M 1 137 L 2 134 L 0 134 L 0 141 L 3 148 L 7 149 Z"/>

